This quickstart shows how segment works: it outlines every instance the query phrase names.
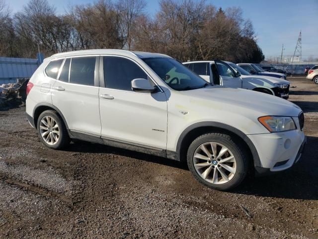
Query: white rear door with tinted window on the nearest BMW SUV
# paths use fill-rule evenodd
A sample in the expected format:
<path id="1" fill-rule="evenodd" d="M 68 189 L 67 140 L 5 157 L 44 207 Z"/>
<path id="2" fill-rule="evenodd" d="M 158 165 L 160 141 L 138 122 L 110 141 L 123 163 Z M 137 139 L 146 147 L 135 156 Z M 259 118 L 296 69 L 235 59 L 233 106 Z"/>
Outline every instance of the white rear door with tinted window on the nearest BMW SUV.
<path id="1" fill-rule="evenodd" d="M 99 56 L 66 58 L 53 86 L 53 105 L 79 135 L 100 136 L 98 61 Z"/>

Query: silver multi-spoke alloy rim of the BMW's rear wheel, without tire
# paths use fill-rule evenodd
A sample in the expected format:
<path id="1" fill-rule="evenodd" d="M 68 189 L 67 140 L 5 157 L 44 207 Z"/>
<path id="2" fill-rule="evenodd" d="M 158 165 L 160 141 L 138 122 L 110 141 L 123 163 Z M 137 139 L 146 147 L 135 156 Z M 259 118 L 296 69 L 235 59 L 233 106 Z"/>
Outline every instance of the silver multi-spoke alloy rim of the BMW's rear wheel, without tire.
<path id="1" fill-rule="evenodd" d="M 55 119 L 44 116 L 40 121 L 40 134 L 47 144 L 56 144 L 60 138 L 60 128 Z"/>

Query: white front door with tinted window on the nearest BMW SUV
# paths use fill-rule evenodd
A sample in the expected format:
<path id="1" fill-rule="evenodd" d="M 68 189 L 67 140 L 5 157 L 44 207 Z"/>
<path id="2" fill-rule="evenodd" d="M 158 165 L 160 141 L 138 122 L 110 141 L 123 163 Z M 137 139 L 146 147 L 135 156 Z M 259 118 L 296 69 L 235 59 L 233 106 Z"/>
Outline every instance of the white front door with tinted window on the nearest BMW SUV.
<path id="1" fill-rule="evenodd" d="M 100 68 L 105 84 L 99 89 L 102 138 L 165 149 L 167 101 L 164 92 L 132 91 L 133 79 L 149 79 L 153 83 L 132 59 L 104 56 Z"/>

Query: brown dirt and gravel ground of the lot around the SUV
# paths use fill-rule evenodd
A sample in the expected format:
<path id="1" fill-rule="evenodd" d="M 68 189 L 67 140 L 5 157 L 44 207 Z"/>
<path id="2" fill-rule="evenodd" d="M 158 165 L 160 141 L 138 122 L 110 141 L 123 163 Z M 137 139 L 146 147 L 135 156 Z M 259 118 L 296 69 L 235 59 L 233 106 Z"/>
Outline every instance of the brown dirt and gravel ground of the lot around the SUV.
<path id="1" fill-rule="evenodd" d="M 233 192 L 160 157 L 88 142 L 48 149 L 25 108 L 0 111 L 0 238 L 317 239 L 318 85 L 290 80 L 305 113 L 302 160 Z"/>

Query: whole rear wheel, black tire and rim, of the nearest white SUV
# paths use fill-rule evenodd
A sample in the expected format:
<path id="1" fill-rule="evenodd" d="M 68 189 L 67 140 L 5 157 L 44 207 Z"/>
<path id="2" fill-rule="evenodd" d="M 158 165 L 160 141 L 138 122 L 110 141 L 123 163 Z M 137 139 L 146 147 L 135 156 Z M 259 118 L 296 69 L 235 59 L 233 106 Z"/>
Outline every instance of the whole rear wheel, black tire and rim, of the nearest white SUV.
<path id="1" fill-rule="evenodd" d="M 49 148 L 62 149 L 70 143 L 66 126 L 56 111 L 42 112 L 37 121 L 37 130 L 40 140 Z"/>

